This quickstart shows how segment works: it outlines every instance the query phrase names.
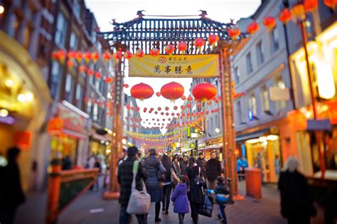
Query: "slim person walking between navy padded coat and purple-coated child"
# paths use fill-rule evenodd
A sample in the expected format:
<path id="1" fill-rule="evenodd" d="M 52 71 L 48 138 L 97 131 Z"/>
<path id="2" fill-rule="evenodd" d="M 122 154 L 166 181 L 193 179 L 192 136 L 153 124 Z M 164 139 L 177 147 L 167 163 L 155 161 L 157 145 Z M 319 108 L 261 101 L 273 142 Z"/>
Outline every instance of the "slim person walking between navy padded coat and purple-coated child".
<path id="1" fill-rule="evenodd" d="M 163 211 L 165 215 L 169 214 L 169 206 L 170 206 L 170 198 L 171 198 L 171 191 L 173 188 L 173 183 L 171 180 L 171 161 L 169 156 L 164 155 L 161 158 L 161 163 L 163 164 L 164 168 L 166 169 L 165 173 L 165 180 L 163 181 Z"/>

